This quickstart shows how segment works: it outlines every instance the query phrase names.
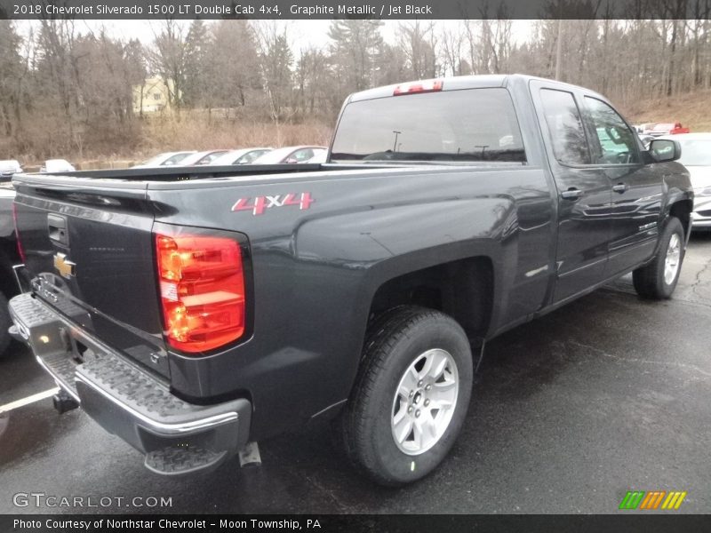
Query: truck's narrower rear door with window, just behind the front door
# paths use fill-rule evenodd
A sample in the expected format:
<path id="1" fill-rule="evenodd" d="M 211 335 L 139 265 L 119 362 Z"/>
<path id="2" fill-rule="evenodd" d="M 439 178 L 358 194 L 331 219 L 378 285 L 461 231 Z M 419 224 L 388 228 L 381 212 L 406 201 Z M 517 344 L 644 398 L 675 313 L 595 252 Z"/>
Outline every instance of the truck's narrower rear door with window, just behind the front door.
<path id="1" fill-rule="evenodd" d="M 603 280 L 611 235 L 611 182 L 592 164 L 579 91 L 531 81 L 558 194 L 554 302 Z"/>

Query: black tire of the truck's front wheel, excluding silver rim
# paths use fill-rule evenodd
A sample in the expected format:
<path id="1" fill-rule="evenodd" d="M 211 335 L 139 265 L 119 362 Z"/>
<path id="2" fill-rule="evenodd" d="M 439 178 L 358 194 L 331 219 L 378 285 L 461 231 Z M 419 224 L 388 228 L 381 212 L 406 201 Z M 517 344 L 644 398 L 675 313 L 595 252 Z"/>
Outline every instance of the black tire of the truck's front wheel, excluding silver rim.
<path id="1" fill-rule="evenodd" d="M 676 268 L 674 279 L 667 281 L 665 279 L 667 251 L 669 250 L 669 243 L 674 235 L 676 235 L 680 246 L 678 267 Z M 651 263 L 645 267 L 637 268 L 632 273 L 632 281 L 635 284 L 637 294 L 642 298 L 648 299 L 671 298 L 676 288 L 676 282 L 679 281 L 679 274 L 682 271 L 684 243 L 682 223 L 675 217 L 670 218 L 659 238 L 659 250 L 657 251 L 657 255 L 654 256 Z"/>

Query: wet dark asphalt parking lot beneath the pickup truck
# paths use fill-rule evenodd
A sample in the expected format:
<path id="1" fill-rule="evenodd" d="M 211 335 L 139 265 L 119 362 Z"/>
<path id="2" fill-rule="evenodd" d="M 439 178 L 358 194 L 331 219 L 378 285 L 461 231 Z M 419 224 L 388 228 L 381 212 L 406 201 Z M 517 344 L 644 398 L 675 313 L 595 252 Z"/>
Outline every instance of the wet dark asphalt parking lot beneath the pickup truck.
<path id="1" fill-rule="evenodd" d="M 259 468 L 166 479 L 44 399 L 0 415 L 0 513 L 614 513 L 629 489 L 687 491 L 672 513 L 709 513 L 709 330 L 711 235 L 694 235 L 675 298 L 643 301 L 622 278 L 492 341 L 459 442 L 404 489 L 360 477 L 326 428 L 260 443 Z M 23 348 L 0 361 L 0 405 L 52 386 Z M 114 499 L 16 506 L 17 493 Z"/>

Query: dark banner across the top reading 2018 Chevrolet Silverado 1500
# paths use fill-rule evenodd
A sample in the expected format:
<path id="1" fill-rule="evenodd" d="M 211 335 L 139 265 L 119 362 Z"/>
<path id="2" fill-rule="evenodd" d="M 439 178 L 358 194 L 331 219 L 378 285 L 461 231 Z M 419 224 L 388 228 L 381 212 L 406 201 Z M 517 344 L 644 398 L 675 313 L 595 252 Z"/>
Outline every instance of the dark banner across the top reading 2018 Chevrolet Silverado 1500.
<path id="1" fill-rule="evenodd" d="M 0 19 L 698 19 L 682 0 L 0 0 Z"/>

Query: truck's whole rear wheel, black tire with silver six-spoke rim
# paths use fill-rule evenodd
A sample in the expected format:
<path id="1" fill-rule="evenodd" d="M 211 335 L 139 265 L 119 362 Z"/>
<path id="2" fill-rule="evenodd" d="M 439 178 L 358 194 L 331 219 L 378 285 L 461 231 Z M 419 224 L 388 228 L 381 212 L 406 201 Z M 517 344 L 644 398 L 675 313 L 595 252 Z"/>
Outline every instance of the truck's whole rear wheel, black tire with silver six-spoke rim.
<path id="1" fill-rule="evenodd" d="M 340 419 L 348 456 L 383 485 L 416 481 L 451 449 L 472 387 L 467 335 L 446 314 L 398 307 L 371 329 Z"/>

